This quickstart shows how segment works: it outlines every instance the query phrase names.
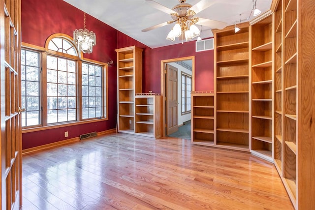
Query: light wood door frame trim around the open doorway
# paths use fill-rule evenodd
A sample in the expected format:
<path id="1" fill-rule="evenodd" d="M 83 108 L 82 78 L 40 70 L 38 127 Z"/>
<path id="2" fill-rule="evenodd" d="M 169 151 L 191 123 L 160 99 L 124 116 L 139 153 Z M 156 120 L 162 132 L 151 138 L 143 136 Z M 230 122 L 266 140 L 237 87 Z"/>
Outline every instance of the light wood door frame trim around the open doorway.
<path id="1" fill-rule="evenodd" d="M 192 71 L 192 78 L 191 78 L 191 91 L 195 90 L 195 57 L 194 56 L 188 56 L 188 57 L 182 57 L 182 58 L 176 58 L 176 59 L 168 59 L 168 60 L 161 60 L 161 94 L 163 97 L 163 103 L 162 103 L 162 108 L 163 108 L 163 132 L 162 132 L 162 136 L 165 137 L 166 135 L 166 129 L 165 129 L 165 125 L 166 125 L 166 100 L 165 100 L 165 96 L 166 96 L 166 83 L 165 83 L 165 79 L 166 79 L 166 75 L 164 73 L 165 70 L 165 66 L 166 63 L 169 62 L 175 62 L 175 61 L 181 61 L 181 60 L 191 60 L 191 71 Z"/>

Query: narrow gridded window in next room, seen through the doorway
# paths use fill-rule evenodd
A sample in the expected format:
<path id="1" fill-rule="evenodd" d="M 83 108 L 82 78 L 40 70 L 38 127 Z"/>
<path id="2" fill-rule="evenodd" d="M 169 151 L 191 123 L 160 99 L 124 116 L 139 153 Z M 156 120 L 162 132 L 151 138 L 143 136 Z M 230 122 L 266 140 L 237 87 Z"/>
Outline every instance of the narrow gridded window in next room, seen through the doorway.
<path id="1" fill-rule="evenodd" d="M 182 114 L 191 111 L 191 77 L 182 74 Z"/>

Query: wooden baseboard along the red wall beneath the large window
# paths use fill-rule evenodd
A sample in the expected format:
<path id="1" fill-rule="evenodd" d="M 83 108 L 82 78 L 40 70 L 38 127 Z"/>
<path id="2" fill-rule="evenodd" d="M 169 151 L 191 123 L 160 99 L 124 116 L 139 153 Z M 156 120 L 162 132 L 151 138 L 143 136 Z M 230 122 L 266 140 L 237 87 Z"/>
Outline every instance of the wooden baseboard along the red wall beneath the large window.
<path id="1" fill-rule="evenodd" d="M 113 133 L 113 132 L 116 132 L 116 128 L 113 128 L 113 129 L 110 129 L 110 130 L 101 131 L 101 132 L 97 132 L 97 135 L 101 136 L 101 135 L 105 135 L 107 133 Z M 72 139 L 66 139 L 66 140 L 63 140 L 63 141 L 54 142 L 54 143 L 51 143 L 51 144 L 41 145 L 41 146 L 38 146 L 38 147 L 33 147 L 33 148 L 22 150 L 22 154 L 29 154 L 29 153 L 32 153 L 32 152 L 35 152 L 35 151 L 46 150 L 46 149 L 49 149 L 49 148 L 59 147 L 59 146 L 62 146 L 62 145 L 71 144 L 71 143 L 79 142 L 79 141 L 80 141 L 80 137 L 75 137 L 75 138 L 72 138 Z"/>

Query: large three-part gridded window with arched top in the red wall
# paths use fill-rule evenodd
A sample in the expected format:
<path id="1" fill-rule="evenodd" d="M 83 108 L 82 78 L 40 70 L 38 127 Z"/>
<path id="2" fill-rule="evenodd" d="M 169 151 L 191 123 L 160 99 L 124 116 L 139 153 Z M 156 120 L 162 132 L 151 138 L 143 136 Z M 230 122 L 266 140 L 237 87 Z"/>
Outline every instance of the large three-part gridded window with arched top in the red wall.
<path id="1" fill-rule="evenodd" d="M 105 63 L 80 60 L 64 37 L 50 39 L 46 51 L 21 55 L 23 127 L 107 118 Z"/>

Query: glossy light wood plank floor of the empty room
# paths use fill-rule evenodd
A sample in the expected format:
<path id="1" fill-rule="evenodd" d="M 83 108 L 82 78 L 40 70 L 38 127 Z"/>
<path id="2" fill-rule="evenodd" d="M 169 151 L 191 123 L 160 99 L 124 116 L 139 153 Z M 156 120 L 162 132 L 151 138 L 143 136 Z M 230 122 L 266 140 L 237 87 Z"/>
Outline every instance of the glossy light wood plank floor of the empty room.
<path id="1" fill-rule="evenodd" d="M 23 156 L 23 210 L 293 210 L 273 164 L 111 133 Z"/>

